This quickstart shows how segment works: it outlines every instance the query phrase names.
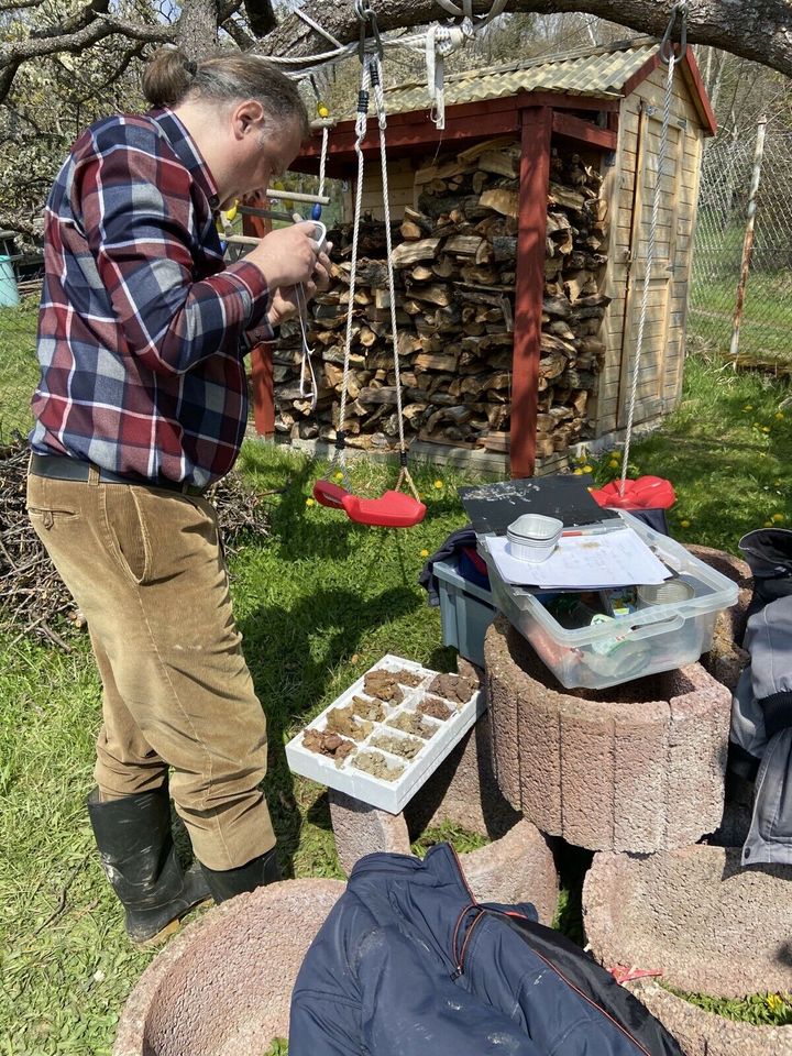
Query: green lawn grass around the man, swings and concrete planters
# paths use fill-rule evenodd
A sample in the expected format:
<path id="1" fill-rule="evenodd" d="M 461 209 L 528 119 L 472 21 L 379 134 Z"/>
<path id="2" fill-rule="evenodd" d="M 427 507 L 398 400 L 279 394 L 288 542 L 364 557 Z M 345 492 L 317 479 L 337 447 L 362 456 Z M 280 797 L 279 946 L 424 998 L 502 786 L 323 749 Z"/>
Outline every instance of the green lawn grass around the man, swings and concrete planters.
<path id="1" fill-rule="evenodd" d="M 790 522 L 792 413 L 776 417 L 785 394 L 772 378 L 689 361 L 682 406 L 632 452 L 636 471 L 673 481 L 679 538 L 735 551 L 745 531 L 773 517 Z M 609 463 L 594 464 L 601 482 L 615 474 Z M 231 559 L 245 654 L 270 721 L 267 796 L 287 873 L 338 877 L 326 791 L 288 771 L 284 744 L 386 651 L 452 666 L 416 578 L 422 551 L 464 520 L 461 476 L 421 470 L 426 521 L 384 531 L 308 505 L 320 468 L 304 458 L 250 443 L 241 464 L 262 491 L 284 488 L 268 499 L 270 536 L 250 538 Z M 355 483 L 376 492 L 394 473 L 364 464 Z M 0 641 L 0 1056 L 107 1056 L 153 954 L 127 944 L 85 813 L 99 684 L 85 639 L 68 656 L 9 646 Z M 424 834 L 416 851 L 438 838 L 460 850 L 477 845 L 447 827 Z M 557 916 L 576 937 L 579 867 L 571 862 Z"/>

